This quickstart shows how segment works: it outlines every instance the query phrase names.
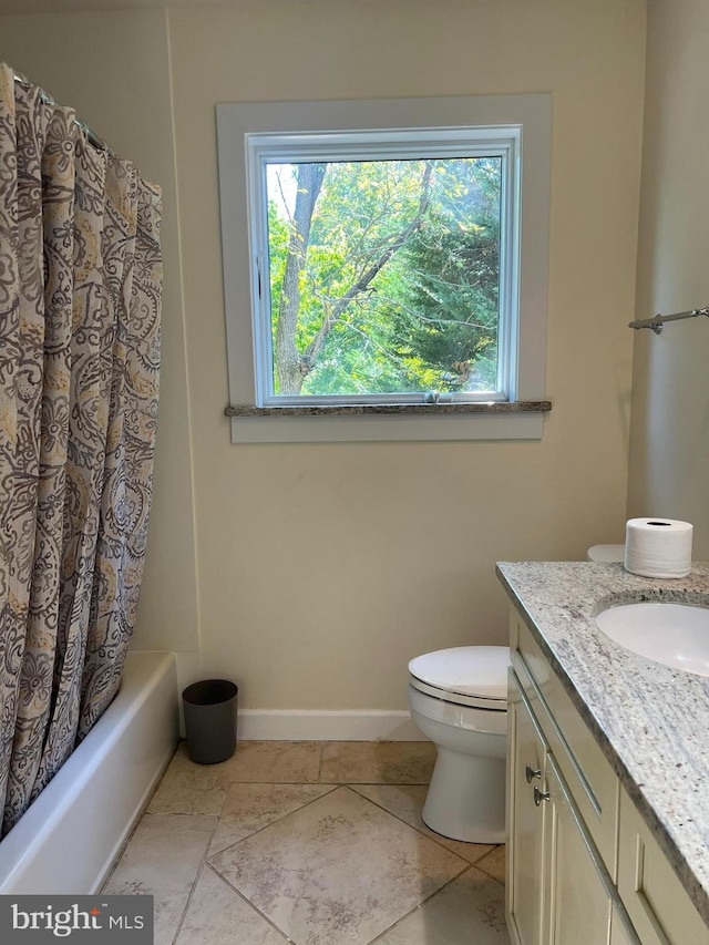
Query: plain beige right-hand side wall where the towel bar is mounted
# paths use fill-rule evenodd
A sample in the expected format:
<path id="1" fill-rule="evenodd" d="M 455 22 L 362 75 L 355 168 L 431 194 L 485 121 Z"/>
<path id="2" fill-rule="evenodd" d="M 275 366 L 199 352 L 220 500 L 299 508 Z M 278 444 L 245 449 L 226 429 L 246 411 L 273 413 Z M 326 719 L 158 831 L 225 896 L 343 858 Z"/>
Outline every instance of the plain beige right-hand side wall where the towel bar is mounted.
<path id="1" fill-rule="evenodd" d="M 709 121 L 706 0 L 653 0 L 637 317 L 709 305 Z M 638 332 L 633 378 L 629 515 L 695 525 L 709 558 L 709 322 Z"/>

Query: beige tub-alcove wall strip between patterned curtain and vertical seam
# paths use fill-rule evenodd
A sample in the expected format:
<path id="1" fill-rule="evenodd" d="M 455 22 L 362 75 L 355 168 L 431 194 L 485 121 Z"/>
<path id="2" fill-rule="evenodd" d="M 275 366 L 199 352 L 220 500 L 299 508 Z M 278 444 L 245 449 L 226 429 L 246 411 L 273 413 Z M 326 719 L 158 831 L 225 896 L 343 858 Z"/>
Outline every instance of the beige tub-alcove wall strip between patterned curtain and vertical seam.
<path id="1" fill-rule="evenodd" d="M 195 650 L 195 542 L 167 16 L 164 10 L 132 10 L 0 17 L 0 59 L 56 101 L 72 105 L 117 154 L 163 189 L 161 405 L 135 644 Z"/>

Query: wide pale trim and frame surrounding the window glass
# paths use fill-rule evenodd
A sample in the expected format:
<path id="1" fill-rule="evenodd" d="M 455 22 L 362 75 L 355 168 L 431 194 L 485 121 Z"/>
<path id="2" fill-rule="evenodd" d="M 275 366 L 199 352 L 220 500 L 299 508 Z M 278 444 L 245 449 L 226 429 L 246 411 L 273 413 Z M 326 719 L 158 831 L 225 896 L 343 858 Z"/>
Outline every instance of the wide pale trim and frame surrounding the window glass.
<path id="1" fill-rule="evenodd" d="M 274 142 L 287 142 L 295 153 L 314 155 L 309 160 L 316 160 L 315 155 L 332 160 L 335 147 L 348 148 L 345 152 L 348 157 L 354 153 L 354 147 L 360 148 L 360 154 L 376 152 L 377 157 L 381 156 L 383 147 L 368 145 L 367 136 L 382 142 L 386 136 L 395 146 L 394 157 L 401 156 L 401 148 L 408 146 L 412 147 L 412 155 L 427 156 L 421 153 L 423 137 L 431 143 L 431 154 L 445 156 L 441 153 L 442 146 L 460 144 L 461 134 L 465 135 L 467 129 L 475 130 L 476 134 L 484 130 L 487 142 L 481 146 L 506 138 L 505 146 L 511 154 L 507 186 L 512 179 L 518 195 L 516 208 L 513 202 L 505 202 L 512 214 L 506 220 L 511 265 L 501 273 L 501 280 L 505 279 L 505 304 L 512 309 L 512 314 L 505 312 L 505 328 L 512 330 L 499 339 L 499 358 L 504 357 L 511 371 L 505 397 L 495 398 L 497 407 L 510 409 L 483 417 L 480 401 L 491 401 L 491 397 L 444 396 L 442 403 L 470 402 L 471 407 L 476 403 L 479 409 L 470 417 L 440 411 L 435 418 L 404 418 L 401 411 L 395 411 L 373 418 L 367 410 L 348 413 L 348 404 L 352 401 L 358 407 L 370 404 L 373 411 L 378 405 L 397 403 L 405 409 L 408 403 L 422 404 L 423 396 L 417 394 L 411 400 L 400 396 L 373 396 L 363 400 L 347 396 L 286 398 L 271 394 L 264 383 L 265 373 L 273 374 L 270 309 L 268 292 L 259 292 L 259 281 L 263 285 L 268 278 L 268 264 L 263 259 L 267 198 L 261 175 L 264 163 L 273 156 Z M 229 399 L 232 404 L 244 408 L 232 419 L 233 441 L 541 436 L 543 414 L 530 409 L 528 402 L 544 397 L 551 129 L 552 103 L 547 94 L 217 105 Z M 512 147 L 511 138 L 514 138 Z M 254 237 L 254 222 L 261 227 L 260 245 Z M 502 256 L 501 253 L 501 261 Z M 515 283 L 516 292 L 511 289 Z M 501 312 L 502 296 L 501 285 Z M 260 331 L 257 323 L 261 326 Z M 500 400 L 504 403 L 500 404 Z M 520 413 L 514 410 L 515 404 L 520 404 Z M 435 412 L 434 407 L 432 410 Z M 328 423 L 322 422 L 326 414 Z M 275 422 L 278 418 L 282 422 Z M 405 422 L 402 424 L 402 421 Z M 333 435 L 337 424 L 343 429 Z M 436 424 L 440 432 L 432 435 Z"/>

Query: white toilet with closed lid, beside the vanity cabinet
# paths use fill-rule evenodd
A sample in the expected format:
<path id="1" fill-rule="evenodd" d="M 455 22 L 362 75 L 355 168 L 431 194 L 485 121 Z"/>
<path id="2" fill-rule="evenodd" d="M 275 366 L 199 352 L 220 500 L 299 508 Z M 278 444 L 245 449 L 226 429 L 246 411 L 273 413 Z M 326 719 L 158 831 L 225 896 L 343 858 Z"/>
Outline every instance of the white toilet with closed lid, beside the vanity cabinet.
<path id="1" fill-rule="evenodd" d="M 409 664 L 409 708 L 438 749 L 427 826 L 452 840 L 503 843 L 510 648 L 464 646 Z"/>

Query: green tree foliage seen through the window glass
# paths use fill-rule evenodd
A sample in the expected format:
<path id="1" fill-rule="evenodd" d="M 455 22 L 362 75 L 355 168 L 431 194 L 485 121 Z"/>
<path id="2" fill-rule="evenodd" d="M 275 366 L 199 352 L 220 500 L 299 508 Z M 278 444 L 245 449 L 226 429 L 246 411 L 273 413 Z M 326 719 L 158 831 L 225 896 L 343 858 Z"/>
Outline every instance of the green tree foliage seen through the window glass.
<path id="1" fill-rule="evenodd" d="M 292 225 L 282 202 L 268 222 L 275 332 Z M 305 248 L 301 393 L 495 388 L 499 158 L 329 164 Z"/>

